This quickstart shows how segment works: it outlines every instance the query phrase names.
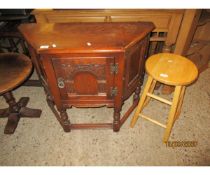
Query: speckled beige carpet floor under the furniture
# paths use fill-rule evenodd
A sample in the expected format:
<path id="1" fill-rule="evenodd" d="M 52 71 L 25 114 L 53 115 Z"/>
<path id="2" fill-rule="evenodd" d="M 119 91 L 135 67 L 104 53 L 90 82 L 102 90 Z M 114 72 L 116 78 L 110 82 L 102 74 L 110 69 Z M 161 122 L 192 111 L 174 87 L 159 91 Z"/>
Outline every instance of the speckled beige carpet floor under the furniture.
<path id="1" fill-rule="evenodd" d="M 146 78 L 145 78 L 146 79 Z M 160 94 L 160 90 L 155 93 Z M 0 165 L 210 165 L 210 68 L 185 93 L 180 118 L 170 141 L 196 141 L 196 147 L 167 147 L 164 129 L 144 119 L 120 129 L 73 130 L 65 133 L 47 106 L 41 87 L 20 87 L 16 99 L 29 96 L 29 107 L 42 109 L 39 119 L 22 118 L 13 135 L 4 135 L 7 119 L 0 119 Z M 164 96 L 172 98 L 170 96 Z M 132 103 L 126 101 L 122 113 Z M 7 107 L 0 97 L 0 107 Z M 143 111 L 165 121 L 169 108 L 152 100 Z M 71 122 L 112 121 L 111 108 L 73 108 Z"/>

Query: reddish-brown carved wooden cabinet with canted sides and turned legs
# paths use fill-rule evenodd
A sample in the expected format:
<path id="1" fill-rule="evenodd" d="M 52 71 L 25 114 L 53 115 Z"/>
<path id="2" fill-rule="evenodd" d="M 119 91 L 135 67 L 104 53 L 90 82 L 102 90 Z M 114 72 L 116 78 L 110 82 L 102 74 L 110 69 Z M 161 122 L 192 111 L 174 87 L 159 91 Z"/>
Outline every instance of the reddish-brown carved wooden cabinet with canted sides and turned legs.
<path id="1" fill-rule="evenodd" d="M 48 105 L 64 131 L 119 131 L 138 103 L 153 29 L 150 22 L 20 25 Z M 133 105 L 121 117 L 123 102 L 134 92 Z M 71 124 L 66 110 L 72 106 L 113 107 L 113 122 Z"/>

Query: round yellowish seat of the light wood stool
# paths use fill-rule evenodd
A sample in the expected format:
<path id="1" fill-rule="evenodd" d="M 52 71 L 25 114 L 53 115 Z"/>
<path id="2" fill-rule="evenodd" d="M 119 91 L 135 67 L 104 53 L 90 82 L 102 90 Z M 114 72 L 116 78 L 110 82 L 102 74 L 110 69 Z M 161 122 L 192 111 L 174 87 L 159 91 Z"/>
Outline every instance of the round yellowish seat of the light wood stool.
<path id="1" fill-rule="evenodd" d="M 145 67 L 150 76 L 167 85 L 187 85 L 198 76 L 198 69 L 192 61 L 172 53 L 149 57 Z"/>

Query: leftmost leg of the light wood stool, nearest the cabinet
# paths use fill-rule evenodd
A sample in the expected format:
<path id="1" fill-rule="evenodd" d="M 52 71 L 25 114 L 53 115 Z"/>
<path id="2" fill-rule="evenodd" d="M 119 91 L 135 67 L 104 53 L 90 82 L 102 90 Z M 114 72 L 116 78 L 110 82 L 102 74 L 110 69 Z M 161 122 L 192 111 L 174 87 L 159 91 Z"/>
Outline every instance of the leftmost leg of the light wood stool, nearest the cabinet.
<path id="1" fill-rule="evenodd" d="M 145 85 L 145 88 L 144 88 L 144 91 L 142 93 L 142 96 L 140 98 L 140 101 L 138 103 L 138 106 L 137 106 L 137 109 L 134 113 L 134 116 L 132 118 L 132 121 L 131 121 L 131 124 L 130 126 L 133 128 L 134 125 L 136 124 L 136 121 L 138 120 L 139 118 L 139 113 L 141 112 L 142 108 L 143 108 L 143 104 L 144 104 L 144 101 L 146 99 L 146 96 L 147 96 L 147 92 L 152 84 L 152 81 L 153 81 L 153 78 L 151 76 L 148 76 L 148 80 L 147 80 L 147 83 Z"/>

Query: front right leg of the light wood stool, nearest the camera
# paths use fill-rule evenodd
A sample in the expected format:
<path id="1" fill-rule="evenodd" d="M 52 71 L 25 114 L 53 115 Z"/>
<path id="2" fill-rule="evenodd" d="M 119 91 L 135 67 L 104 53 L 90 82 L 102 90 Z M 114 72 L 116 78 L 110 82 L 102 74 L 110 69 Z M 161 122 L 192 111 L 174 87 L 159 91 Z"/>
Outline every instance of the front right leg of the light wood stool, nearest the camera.
<path id="1" fill-rule="evenodd" d="M 168 141 L 168 138 L 171 133 L 171 129 L 173 127 L 181 91 L 182 91 L 182 86 L 176 86 L 171 109 L 170 109 L 169 116 L 168 116 L 168 121 L 167 121 L 166 129 L 165 129 L 164 137 L 163 137 L 163 142 L 165 142 L 165 143 Z"/>

